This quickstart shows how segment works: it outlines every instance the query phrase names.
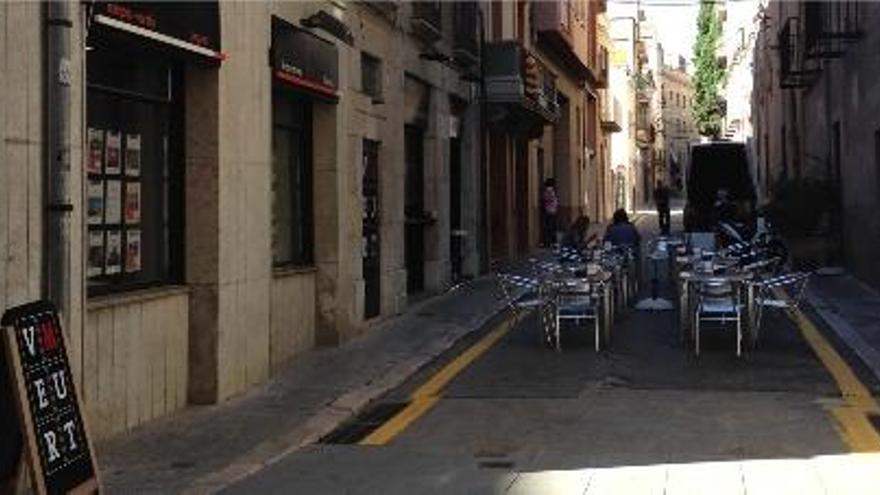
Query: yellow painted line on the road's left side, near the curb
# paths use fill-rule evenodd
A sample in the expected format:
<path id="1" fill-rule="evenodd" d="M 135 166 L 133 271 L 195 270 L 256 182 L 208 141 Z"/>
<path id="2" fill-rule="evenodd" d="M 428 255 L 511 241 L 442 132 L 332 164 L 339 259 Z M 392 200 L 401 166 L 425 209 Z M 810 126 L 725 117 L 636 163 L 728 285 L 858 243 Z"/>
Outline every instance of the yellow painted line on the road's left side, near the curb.
<path id="1" fill-rule="evenodd" d="M 516 322 L 511 322 L 512 316 L 508 315 L 488 334 L 480 339 L 476 344 L 469 347 L 468 350 L 457 356 L 440 371 L 435 373 L 427 382 L 417 388 L 411 395 L 410 403 L 403 408 L 394 417 L 389 419 L 379 428 L 373 430 L 372 433 L 364 437 L 360 445 L 385 445 L 394 440 L 395 437 L 403 433 L 409 425 L 414 423 L 425 413 L 431 410 L 437 402 L 440 401 L 440 394 L 446 385 L 452 381 L 462 370 L 470 366 L 493 345 L 495 345 L 502 337 L 504 337 L 510 329 L 516 326 Z"/>

